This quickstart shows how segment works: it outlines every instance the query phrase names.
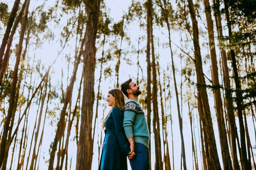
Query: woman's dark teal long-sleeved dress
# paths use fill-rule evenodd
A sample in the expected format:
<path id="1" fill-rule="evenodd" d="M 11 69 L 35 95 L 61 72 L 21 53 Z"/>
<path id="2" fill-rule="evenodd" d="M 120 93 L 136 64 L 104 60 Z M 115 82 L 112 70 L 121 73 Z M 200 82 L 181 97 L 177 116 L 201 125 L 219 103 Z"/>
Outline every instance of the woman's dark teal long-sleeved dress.
<path id="1" fill-rule="evenodd" d="M 105 138 L 99 170 L 127 170 L 127 156 L 130 152 L 128 139 L 123 128 L 124 112 L 112 108 L 105 121 Z"/>

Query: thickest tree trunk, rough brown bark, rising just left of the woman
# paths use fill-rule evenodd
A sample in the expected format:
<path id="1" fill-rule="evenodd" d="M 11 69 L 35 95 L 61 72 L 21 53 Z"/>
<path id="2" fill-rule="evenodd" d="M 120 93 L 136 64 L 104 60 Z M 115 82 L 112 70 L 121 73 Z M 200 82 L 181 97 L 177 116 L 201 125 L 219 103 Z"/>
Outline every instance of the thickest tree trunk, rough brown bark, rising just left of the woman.
<path id="1" fill-rule="evenodd" d="M 81 126 L 77 146 L 76 170 L 92 167 L 92 115 L 94 103 L 95 40 L 97 33 L 100 0 L 86 0 L 86 31 L 84 56 L 84 88 L 81 108 Z"/>

